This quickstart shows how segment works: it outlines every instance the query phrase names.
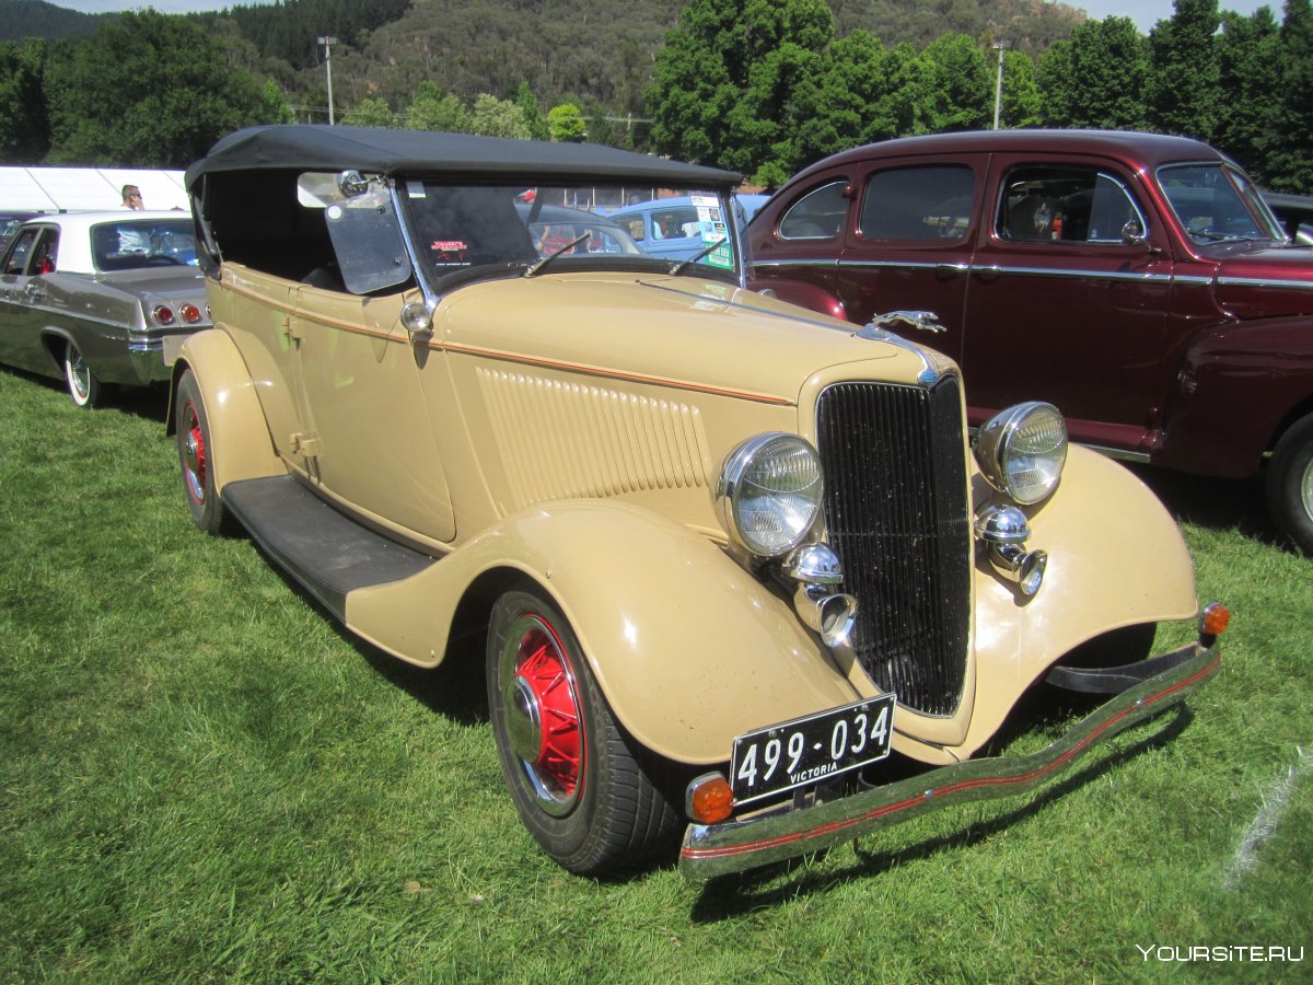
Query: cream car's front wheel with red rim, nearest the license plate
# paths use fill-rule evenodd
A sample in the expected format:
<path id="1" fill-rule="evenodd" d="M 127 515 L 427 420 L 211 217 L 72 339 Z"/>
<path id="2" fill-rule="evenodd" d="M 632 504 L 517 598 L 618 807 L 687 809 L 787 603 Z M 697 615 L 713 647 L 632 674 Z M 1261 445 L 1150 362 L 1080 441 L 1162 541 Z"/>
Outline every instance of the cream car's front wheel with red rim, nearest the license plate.
<path id="1" fill-rule="evenodd" d="M 492 607 L 487 690 L 502 774 L 548 855 L 591 876 L 670 843 L 678 813 L 630 753 L 570 624 L 536 587 Z"/>

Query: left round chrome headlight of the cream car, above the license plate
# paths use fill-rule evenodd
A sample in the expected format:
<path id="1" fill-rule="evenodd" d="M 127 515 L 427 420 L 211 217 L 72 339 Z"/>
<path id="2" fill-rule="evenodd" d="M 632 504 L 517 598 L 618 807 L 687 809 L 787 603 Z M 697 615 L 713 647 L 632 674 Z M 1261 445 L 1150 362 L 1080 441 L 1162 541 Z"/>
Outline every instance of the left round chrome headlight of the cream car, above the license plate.
<path id="1" fill-rule="evenodd" d="M 801 544 L 821 514 L 821 458 L 806 439 L 758 435 L 725 460 L 716 499 L 735 542 L 759 557 Z"/>

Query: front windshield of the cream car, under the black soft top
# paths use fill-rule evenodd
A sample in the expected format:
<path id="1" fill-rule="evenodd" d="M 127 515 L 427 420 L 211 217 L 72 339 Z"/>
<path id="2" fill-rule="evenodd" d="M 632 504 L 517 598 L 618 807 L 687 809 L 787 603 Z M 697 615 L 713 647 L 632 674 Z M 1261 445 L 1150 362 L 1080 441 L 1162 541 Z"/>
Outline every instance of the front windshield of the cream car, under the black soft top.
<path id="1" fill-rule="evenodd" d="M 433 273 L 477 268 L 561 272 L 588 267 L 672 269 L 687 263 L 702 274 L 738 276 L 738 255 L 727 201 L 714 190 L 608 185 L 450 185 L 408 181 L 403 197 L 418 253 Z M 680 256 L 653 248 L 649 236 L 620 209 L 679 200 L 680 235 L 691 250 Z M 548 263 L 541 263 L 546 260 Z"/>

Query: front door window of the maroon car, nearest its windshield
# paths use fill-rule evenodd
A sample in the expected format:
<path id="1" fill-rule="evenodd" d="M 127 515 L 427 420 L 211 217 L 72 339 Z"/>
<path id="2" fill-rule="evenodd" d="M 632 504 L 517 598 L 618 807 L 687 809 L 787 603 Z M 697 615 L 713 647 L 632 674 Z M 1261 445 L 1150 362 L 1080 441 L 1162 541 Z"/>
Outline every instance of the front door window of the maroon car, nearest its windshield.
<path id="1" fill-rule="evenodd" d="M 1128 229 L 1130 226 L 1130 229 Z M 1016 168 L 1003 181 L 998 235 L 1014 243 L 1123 243 L 1148 231 L 1125 185 L 1098 168 Z"/>

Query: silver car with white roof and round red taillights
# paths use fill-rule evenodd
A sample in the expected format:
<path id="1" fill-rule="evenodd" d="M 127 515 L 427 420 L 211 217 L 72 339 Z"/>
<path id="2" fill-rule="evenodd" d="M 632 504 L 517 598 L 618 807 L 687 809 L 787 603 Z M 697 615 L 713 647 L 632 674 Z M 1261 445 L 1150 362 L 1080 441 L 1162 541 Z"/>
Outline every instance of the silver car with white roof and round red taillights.
<path id="1" fill-rule="evenodd" d="M 167 380 L 164 340 L 209 326 L 186 213 L 41 215 L 0 259 L 0 362 L 64 380 L 80 407 Z"/>

